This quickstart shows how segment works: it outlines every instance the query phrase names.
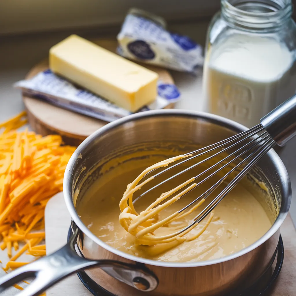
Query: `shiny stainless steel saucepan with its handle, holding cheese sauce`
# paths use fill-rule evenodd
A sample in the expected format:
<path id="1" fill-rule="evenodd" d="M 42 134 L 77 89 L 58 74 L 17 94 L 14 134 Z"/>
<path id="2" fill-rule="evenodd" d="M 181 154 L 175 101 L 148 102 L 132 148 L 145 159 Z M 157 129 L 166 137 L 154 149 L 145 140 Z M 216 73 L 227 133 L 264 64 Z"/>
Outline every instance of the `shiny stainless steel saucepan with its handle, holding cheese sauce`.
<path id="1" fill-rule="evenodd" d="M 231 120 L 184 110 L 140 112 L 99 129 L 77 148 L 65 172 L 64 196 L 73 229 L 70 242 L 52 255 L 1 278 L 0 292 L 17 281 L 36 276 L 19 295 L 38 295 L 69 274 L 90 267 L 86 273 L 91 279 L 118 296 L 222 295 L 238 285 L 255 282 L 274 259 L 279 228 L 291 202 L 287 171 L 273 150 L 251 174 L 270 189 L 269 206 L 279 208 L 277 218 L 257 242 L 220 259 L 169 263 L 126 254 L 92 234 L 75 210 L 75 205 L 102 173 L 102 165 L 120 155 L 131 155 L 143 149 L 143 143 L 150 148 L 162 147 L 163 143 L 182 143 L 185 148 L 186 145 L 206 146 L 244 130 L 244 126 Z"/>

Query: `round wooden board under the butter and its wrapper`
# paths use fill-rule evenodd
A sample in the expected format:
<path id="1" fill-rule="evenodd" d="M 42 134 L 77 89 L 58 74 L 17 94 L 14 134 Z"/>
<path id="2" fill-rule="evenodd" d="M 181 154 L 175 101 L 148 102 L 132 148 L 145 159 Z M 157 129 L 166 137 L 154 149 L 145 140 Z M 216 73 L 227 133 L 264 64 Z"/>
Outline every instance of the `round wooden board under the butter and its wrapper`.
<path id="1" fill-rule="evenodd" d="M 97 40 L 94 43 L 112 52 L 116 51 L 116 40 Z M 174 83 L 172 76 L 167 70 L 150 65 L 144 66 L 157 72 L 163 82 Z M 37 73 L 46 69 L 48 69 L 47 59 L 33 67 L 26 75 L 26 79 L 32 78 Z M 39 99 L 24 95 L 22 99 L 32 129 L 43 136 L 59 134 L 62 136 L 65 144 L 68 145 L 78 146 L 91 133 L 107 124 L 103 120 L 65 110 Z M 167 108 L 173 108 L 173 104 Z"/>

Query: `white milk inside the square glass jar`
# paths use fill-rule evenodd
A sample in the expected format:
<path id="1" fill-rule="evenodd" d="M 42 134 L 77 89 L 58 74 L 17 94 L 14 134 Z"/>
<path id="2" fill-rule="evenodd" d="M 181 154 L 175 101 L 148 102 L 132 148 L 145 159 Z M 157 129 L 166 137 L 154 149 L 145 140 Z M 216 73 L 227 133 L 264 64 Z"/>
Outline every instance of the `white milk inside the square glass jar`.
<path id="1" fill-rule="evenodd" d="M 233 35 L 205 61 L 208 111 L 251 128 L 296 90 L 294 56 L 284 44 Z"/>

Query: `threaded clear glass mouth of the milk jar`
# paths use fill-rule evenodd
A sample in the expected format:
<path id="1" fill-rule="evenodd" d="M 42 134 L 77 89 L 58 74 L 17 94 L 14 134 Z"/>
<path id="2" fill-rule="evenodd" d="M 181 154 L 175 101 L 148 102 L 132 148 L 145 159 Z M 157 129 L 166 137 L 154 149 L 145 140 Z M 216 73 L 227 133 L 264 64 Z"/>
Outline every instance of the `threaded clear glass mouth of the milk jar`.
<path id="1" fill-rule="evenodd" d="M 260 30 L 281 26 L 292 15 L 291 0 L 221 0 L 226 21 L 246 29 Z"/>

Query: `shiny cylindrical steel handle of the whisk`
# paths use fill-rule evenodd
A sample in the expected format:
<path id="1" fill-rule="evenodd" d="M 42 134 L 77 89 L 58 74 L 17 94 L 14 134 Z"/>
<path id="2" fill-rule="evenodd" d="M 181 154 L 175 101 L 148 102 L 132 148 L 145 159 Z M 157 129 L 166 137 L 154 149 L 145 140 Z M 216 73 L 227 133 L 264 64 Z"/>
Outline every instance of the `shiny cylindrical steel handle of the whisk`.
<path id="1" fill-rule="evenodd" d="M 262 126 L 279 146 L 296 135 L 296 94 L 260 120 Z"/>

